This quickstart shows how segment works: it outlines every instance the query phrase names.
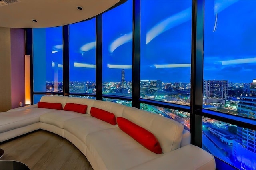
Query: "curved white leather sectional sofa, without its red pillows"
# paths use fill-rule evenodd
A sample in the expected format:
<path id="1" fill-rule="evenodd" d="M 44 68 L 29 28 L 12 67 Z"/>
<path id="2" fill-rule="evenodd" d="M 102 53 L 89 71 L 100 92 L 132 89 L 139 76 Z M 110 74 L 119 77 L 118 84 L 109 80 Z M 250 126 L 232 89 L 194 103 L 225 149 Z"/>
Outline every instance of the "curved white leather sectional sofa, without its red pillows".
<path id="1" fill-rule="evenodd" d="M 0 142 L 43 129 L 72 142 L 94 170 L 215 170 L 214 157 L 190 144 L 190 132 L 181 123 L 161 115 L 108 101 L 43 96 L 41 102 L 87 105 L 86 114 L 38 108 L 37 104 L 0 113 Z M 162 154 L 146 149 L 118 125 L 90 115 L 91 107 L 123 117 L 158 139 Z"/>

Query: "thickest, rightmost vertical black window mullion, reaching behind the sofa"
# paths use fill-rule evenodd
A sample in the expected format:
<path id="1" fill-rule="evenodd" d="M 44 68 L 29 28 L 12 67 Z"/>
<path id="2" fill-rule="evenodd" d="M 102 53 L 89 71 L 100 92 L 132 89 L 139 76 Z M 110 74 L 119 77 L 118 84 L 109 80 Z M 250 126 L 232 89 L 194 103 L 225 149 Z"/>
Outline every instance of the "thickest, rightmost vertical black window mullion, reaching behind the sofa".
<path id="1" fill-rule="evenodd" d="M 191 45 L 191 144 L 202 147 L 203 103 L 203 51 L 204 51 L 204 0 L 192 3 L 192 45 Z"/>

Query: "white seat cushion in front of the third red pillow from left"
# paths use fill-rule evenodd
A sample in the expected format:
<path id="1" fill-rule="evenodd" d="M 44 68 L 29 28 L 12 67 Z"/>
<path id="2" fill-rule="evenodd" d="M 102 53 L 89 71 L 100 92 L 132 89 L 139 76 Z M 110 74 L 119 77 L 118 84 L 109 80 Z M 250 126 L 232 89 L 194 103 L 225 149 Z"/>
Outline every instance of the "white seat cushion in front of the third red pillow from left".
<path id="1" fill-rule="evenodd" d="M 118 128 L 118 126 L 113 126 L 88 114 L 64 122 L 64 129 L 74 134 L 84 143 L 88 134 L 108 128 Z"/>

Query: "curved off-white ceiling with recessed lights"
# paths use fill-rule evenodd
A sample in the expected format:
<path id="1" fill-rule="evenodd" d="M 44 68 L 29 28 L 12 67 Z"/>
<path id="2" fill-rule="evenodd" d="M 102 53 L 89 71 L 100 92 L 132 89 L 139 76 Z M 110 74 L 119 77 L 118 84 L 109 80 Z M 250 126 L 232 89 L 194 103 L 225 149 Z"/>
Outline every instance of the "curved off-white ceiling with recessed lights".
<path id="1" fill-rule="evenodd" d="M 45 28 L 92 18 L 126 0 L 0 0 L 0 26 Z M 6 4 L 5 2 L 9 2 Z M 78 10 L 77 6 L 83 9 Z M 38 22 L 33 22 L 32 20 Z"/>

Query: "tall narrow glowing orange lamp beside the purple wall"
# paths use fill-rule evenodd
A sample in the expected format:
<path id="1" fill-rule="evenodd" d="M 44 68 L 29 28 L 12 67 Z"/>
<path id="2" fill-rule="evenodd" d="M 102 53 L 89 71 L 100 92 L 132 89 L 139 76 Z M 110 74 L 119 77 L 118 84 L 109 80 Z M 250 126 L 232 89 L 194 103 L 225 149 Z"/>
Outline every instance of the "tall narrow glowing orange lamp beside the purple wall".
<path id="1" fill-rule="evenodd" d="M 25 105 L 30 104 L 30 55 L 25 55 Z"/>

